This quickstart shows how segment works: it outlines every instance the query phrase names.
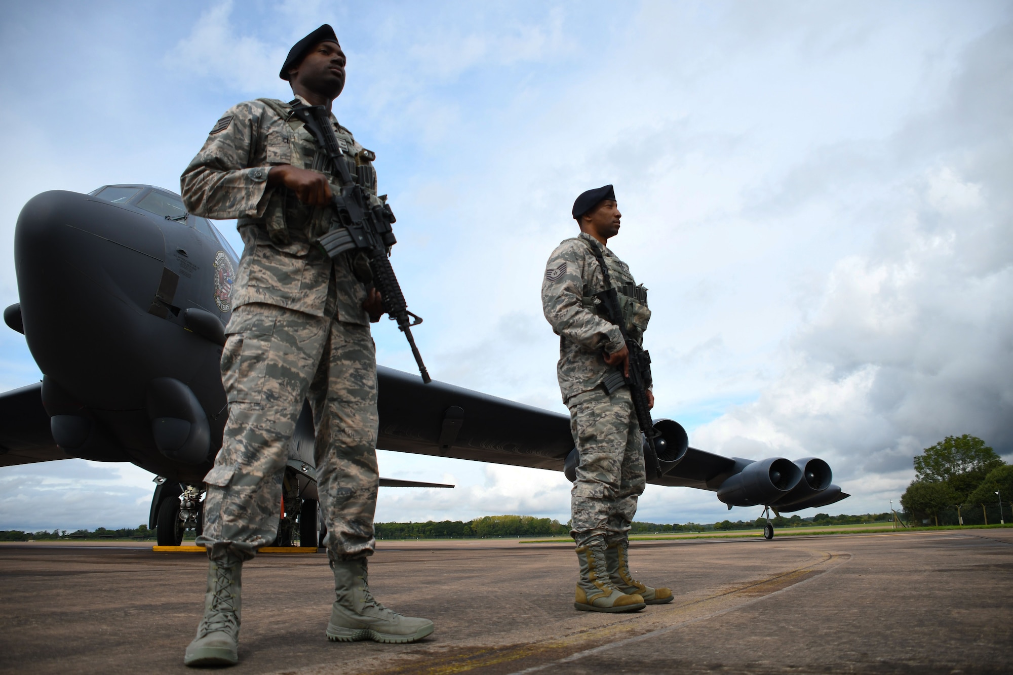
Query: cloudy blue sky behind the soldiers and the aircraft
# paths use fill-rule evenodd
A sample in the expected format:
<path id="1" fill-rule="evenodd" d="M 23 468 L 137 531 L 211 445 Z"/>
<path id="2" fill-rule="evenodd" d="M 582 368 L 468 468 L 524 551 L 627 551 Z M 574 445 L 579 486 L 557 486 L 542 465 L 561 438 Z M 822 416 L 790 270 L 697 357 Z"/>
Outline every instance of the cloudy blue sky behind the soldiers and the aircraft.
<path id="1" fill-rule="evenodd" d="M 288 98 L 322 22 L 341 123 L 378 155 L 393 262 L 438 379 L 563 410 L 538 289 L 579 192 L 616 185 L 613 247 L 651 291 L 656 417 L 696 447 L 819 455 L 881 511 L 911 457 L 972 433 L 1013 453 L 1013 26 L 1007 2 L 8 3 L 0 21 L 0 304 L 46 190 L 178 191 L 222 111 Z M 219 223 L 238 249 L 231 223 Z M 413 370 L 387 322 L 380 363 Z M 40 377 L 0 329 L 0 388 Z M 565 520 L 561 475 L 381 452 L 380 520 Z M 136 525 L 151 476 L 0 468 L 0 528 Z M 87 508 L 83 508 L 87 507 Z M 732 518 L 755 517 L 735 509 Z M 648 486 L 639 518 L 709 522 Z M 803 513 L 803 515 L 805 515 Z"/>

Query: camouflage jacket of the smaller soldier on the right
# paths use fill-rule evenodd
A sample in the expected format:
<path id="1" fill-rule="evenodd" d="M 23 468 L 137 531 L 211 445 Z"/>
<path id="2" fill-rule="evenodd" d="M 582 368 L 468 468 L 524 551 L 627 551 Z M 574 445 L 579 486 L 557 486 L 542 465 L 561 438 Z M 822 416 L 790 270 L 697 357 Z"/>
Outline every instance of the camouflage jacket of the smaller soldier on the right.
<path id="1" fill-rule="evenodd" d="M 603 318 L 600 302 L 593 297 L 605 290 L 605 281 L 590 246 L 602 249 L 613 286 L 634 284 L 629 267 L 585 232 L 564 239 L 549 256 L 542 278 L 542 311 L 559 335 L 556 374 L 564 403 L 574 394 L 600 385 L 614 370 L 605 363 L 603 351 L 612 354 L 624 346 L 619 326 Z M 637 325 L 627 324 L 630 339 L 640 343 L 649 317 L 644 304 Z"/>

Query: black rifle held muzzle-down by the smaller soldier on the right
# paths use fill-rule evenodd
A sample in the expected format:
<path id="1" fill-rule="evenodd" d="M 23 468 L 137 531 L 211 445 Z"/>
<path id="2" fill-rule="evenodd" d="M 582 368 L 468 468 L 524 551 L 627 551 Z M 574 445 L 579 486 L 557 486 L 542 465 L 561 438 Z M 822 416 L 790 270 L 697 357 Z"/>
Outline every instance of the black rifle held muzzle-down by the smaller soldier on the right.
<path id="1" fill-rule="evenodd" d="M 590 243 L 590 242 L 589 242 Z M 650 404 L 647 402 L 647 387 L 650 386 L 650 355 L 635 341 L 630 340 L 626 332 L 626 322 L 623 320 L 623 312 L 619 306 L 619 294 L 615 286 L 612 285 L 612 278 L 609 276 L 609 268 L 605 265 L 605 256 L 598 244 L 592 244 L 592 251 L 598 258 L 598 265 L 602 268 L 602 278 L 605 281 L 605 290 L 596 295 L 601 299 L 608 319 L 619 326 L 626 349 L 629 350 L 629 375 L 623 374 L 619 370 L 615 375 L 622 375 L 630 389 L 630 398 L 633 399 L 633 409 L 636 411 L 637 425 L 640 433 L 643 434 L 644 442 L 649 450 L 650 469 L 654 471 L 654 479 L 661 477 L 661 463 L 658 460 L 658 452 L 665 452 L 666 441 L 659 431 L 654 429 L 654 422 L 650 419 Z M 610 391 L 612 387 L 609 387 Z M 644 462 L 646 463 L 646 461 Z M 650 477 L 650 476 L 648 476 Z"/>

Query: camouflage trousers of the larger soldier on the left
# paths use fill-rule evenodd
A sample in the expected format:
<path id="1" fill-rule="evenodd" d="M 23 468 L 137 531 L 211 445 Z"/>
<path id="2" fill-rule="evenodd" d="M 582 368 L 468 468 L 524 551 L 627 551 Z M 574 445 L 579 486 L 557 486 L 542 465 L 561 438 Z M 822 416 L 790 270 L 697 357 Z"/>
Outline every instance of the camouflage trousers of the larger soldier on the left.
<path id="1" fill-rule="evenodd" d="M 231 551 L 248 559 L 275 539 L 289 440 L 308 399 L 328 555 L 371 555 L 380 422 L 369 326 L 252 303 L 236 308 L 228 332 L 222 382 L 229 420 L 205 477 L 198 543 L 212 557 Z"/>

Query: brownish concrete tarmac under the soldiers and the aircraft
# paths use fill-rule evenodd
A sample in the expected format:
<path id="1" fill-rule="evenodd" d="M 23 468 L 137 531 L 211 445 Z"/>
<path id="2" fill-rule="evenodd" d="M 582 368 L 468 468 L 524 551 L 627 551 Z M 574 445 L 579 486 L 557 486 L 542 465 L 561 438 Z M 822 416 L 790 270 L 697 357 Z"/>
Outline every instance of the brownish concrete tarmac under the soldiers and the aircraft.
<path id="1" fill-rule="evenodd" d="M 1009 673 L 1013 530 L 634 542 L 676 599 L 577 612 L 571 546 L 380 542 L 375 595 L 416 645 L 328 643 L 324 555 L 243 572 L 230 673 Z M 183 673 L 207 561 L 150 546 L 0 545 L 0 672 Z"/>

